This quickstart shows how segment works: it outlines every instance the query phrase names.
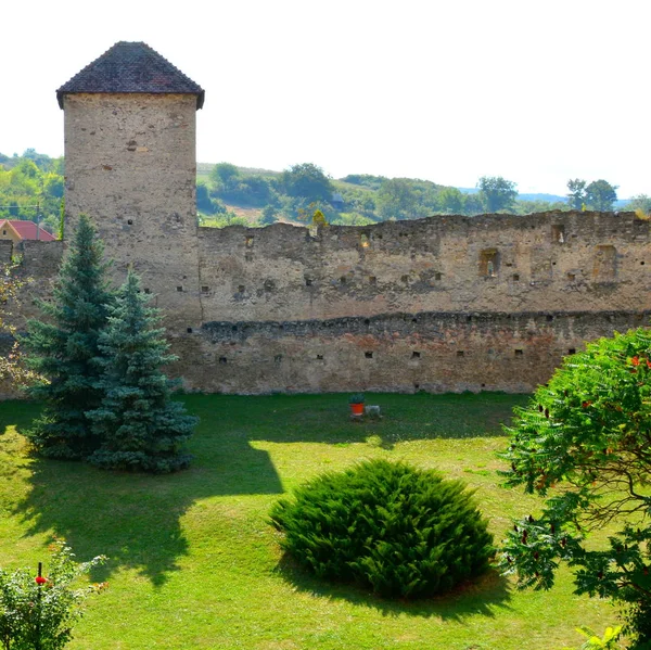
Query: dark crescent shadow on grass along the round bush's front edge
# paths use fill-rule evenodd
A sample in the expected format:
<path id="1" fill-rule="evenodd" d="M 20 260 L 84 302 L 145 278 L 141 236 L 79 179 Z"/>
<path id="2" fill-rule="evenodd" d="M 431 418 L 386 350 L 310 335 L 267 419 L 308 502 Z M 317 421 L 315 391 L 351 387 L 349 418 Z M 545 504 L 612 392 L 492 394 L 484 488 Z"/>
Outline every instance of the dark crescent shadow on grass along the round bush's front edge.
<path id="1" fill-rule="evenodd" d="M 508 582 L 490 570 L 474 583 L 459 585 L 445 596 L 420 600 L 387 600 L 356 585 L 323 582 L 298 566 L 286 553 L 276 568 L 283 579 L 298 591 L 329 600 L 346 600 L 378 610 L 384 616 L 436 616 L 462 621 L 468 616 L 495 616 L 495 609 L 510 609 L 511 594 Z"/>

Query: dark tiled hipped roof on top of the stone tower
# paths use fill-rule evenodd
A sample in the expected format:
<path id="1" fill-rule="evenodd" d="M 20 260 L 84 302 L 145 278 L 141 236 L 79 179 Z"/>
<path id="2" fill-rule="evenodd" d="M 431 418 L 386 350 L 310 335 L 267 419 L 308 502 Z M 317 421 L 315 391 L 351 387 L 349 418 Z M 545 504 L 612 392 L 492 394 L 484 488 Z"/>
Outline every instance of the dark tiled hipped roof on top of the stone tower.
<path id="1" fill-rule="evenodd" d="M 143 42 L 115 43 L 56 91 L 59 105 L 77 92 L 195 94 L 197 109 L 204 102 L 201 86 Z"/>

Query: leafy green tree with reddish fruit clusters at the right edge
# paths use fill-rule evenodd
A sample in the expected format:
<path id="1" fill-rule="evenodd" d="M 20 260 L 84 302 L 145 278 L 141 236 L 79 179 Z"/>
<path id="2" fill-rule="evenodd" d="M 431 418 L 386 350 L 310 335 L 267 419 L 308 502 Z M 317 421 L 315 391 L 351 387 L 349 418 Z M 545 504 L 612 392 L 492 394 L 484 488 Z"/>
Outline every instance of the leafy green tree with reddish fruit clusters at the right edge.
<path id="1" fill-rule="evenodd" d="M 628 632 L 651 643 L 651 331 L 566 357 L 508 433 L 507 485 L 546 501 L 508 534 L 502 570 L 548 589 L 565 561 L 577 592 L 628 603 Z M 609 523 L 618 530 L 599 548 L 589 533 Z"/>

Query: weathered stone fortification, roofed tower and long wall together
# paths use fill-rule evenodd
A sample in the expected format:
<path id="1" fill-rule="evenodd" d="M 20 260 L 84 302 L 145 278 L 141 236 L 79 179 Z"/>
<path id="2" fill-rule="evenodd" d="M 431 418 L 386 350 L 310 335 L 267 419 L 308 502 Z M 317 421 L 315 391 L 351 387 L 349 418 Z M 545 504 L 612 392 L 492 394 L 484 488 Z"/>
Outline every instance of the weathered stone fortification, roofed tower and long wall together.
<path id="1" fill-rule="evenodd" d="M 58 95 L 66 233 L 91 215 L 115 282 L 142 276 L 188 387 L 523 392 L 585 341 L 648 324 L 650 222 L 633 213 L 197 228 L 196 84 L 123 42 Z M 22 253 L 49 299 L 62 243 Z"/>

